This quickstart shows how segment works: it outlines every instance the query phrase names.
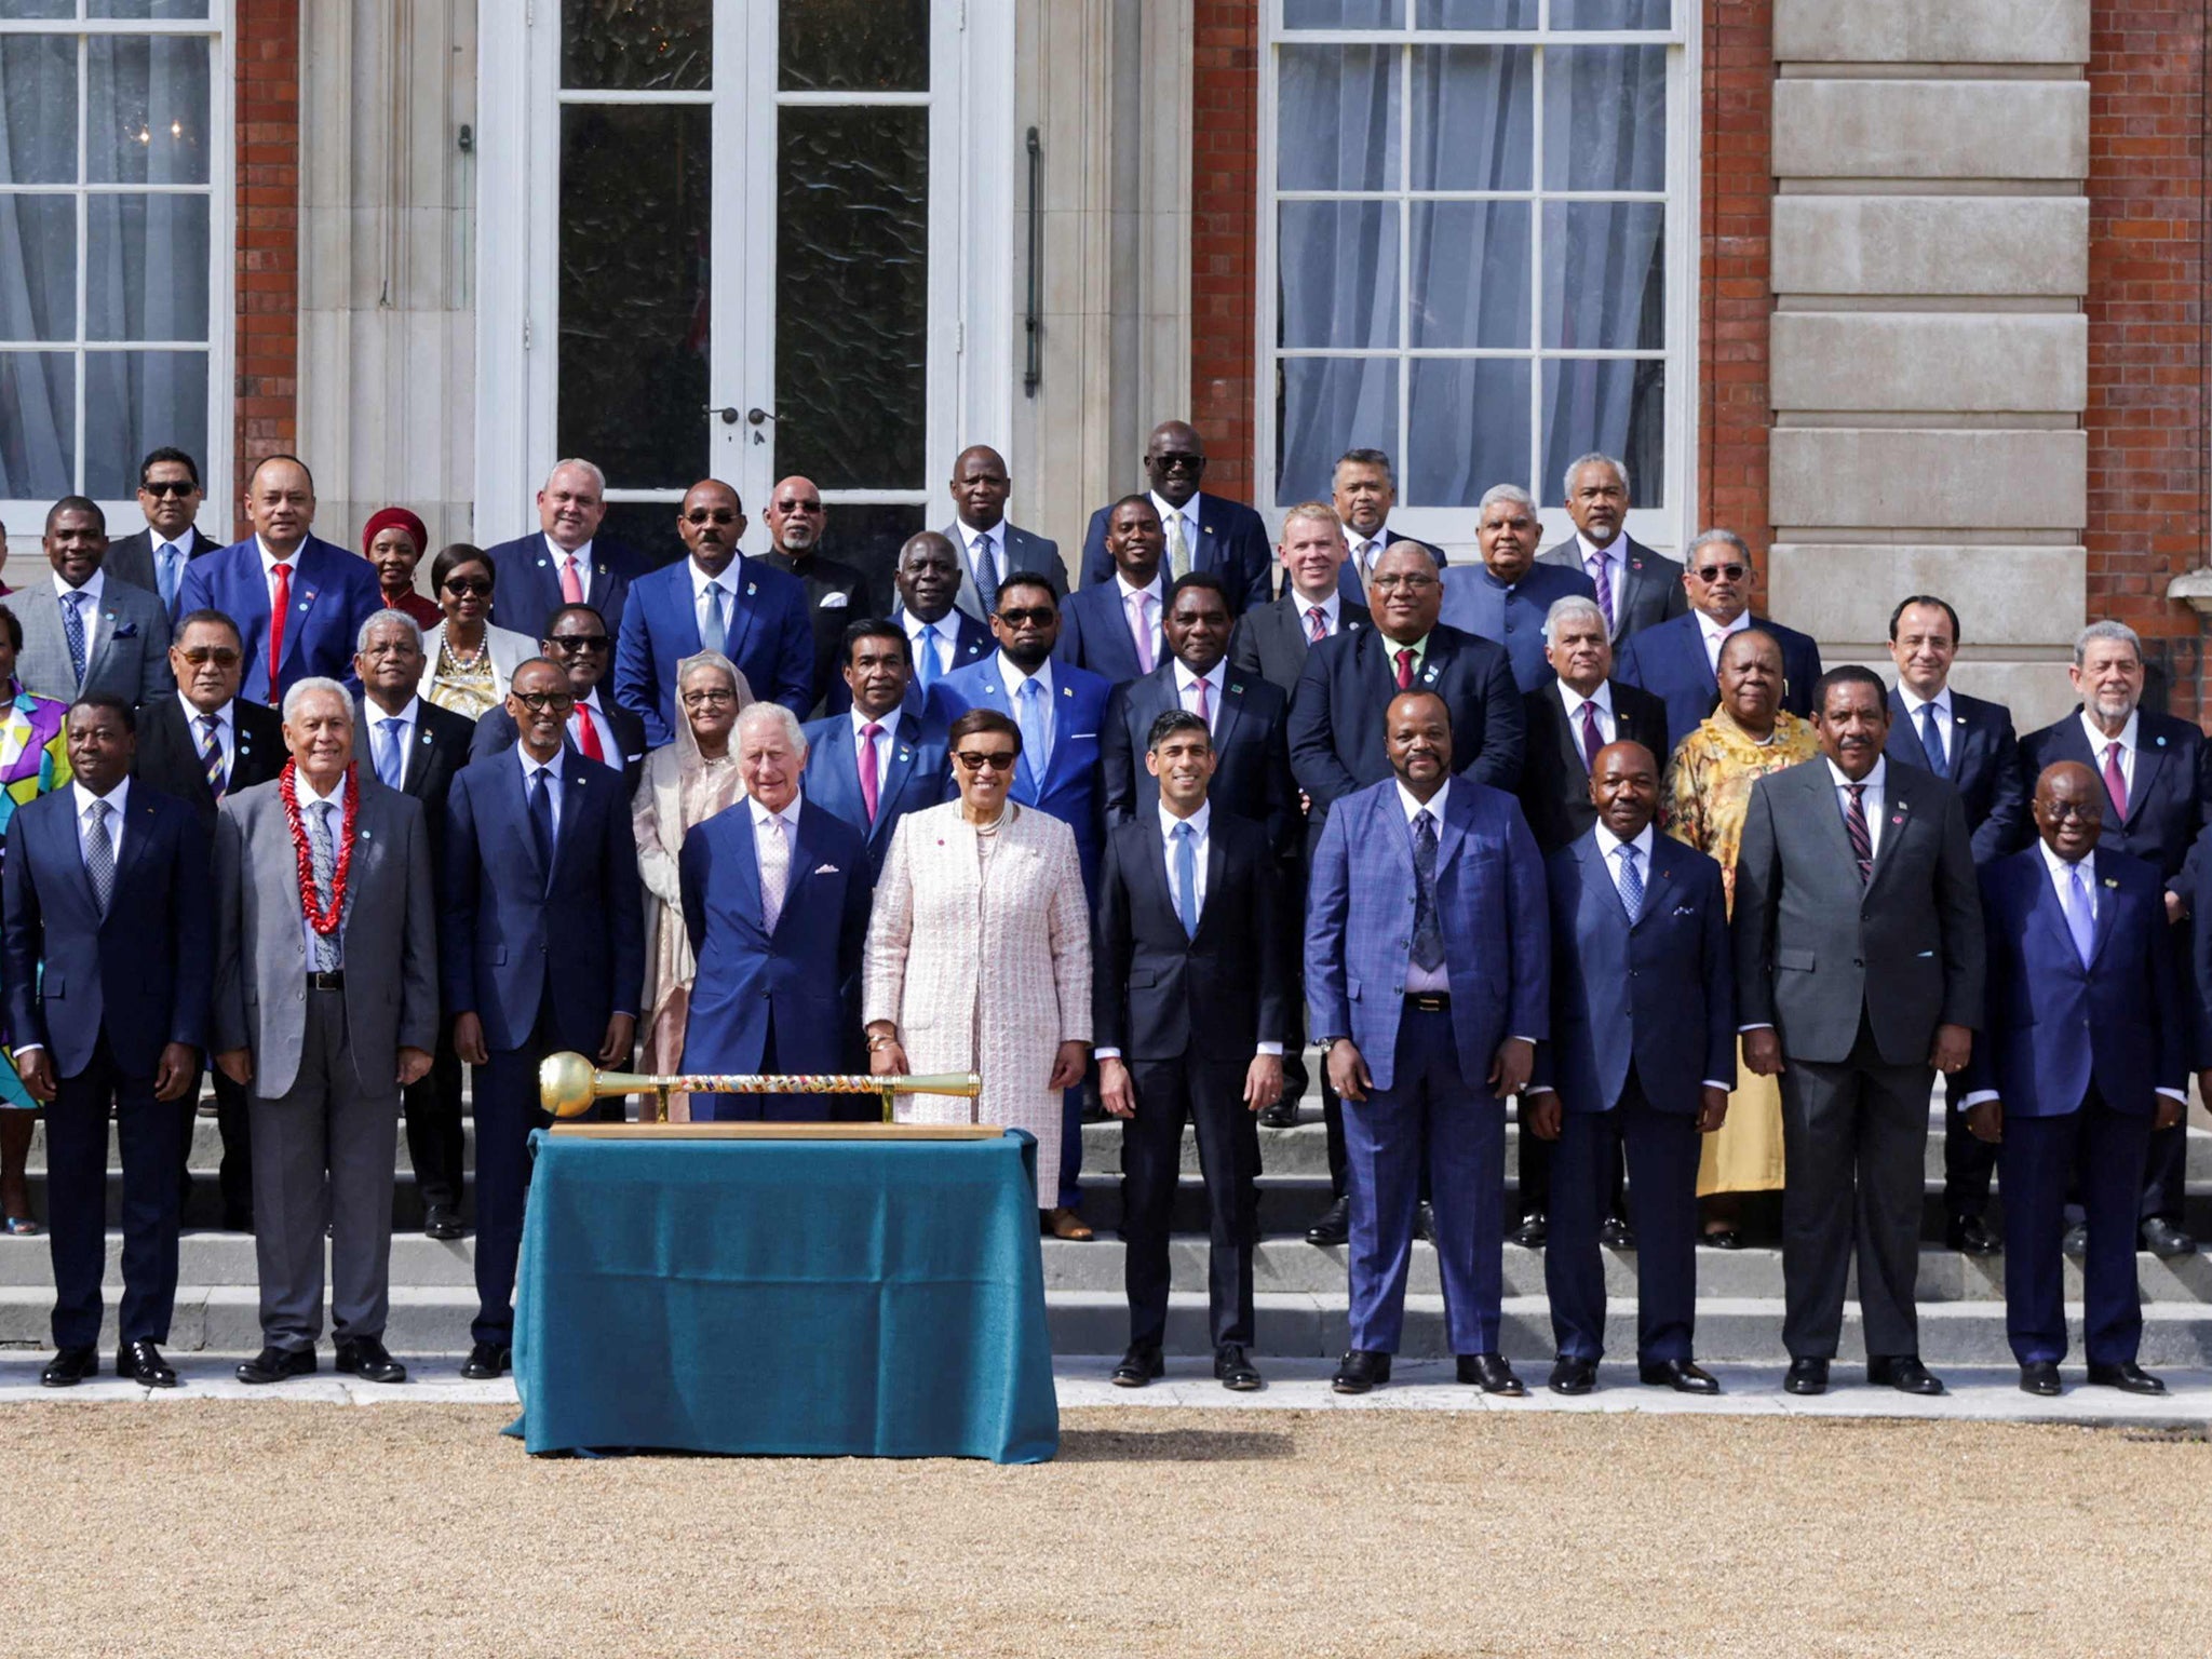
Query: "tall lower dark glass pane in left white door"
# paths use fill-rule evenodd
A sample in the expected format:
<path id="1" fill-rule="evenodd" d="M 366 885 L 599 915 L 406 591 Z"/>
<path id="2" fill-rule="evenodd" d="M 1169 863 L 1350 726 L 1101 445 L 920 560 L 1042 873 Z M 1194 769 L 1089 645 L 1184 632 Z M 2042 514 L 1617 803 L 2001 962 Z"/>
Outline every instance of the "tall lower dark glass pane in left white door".
<path id="1" fill-rule="evenodd" d="M 706 460 L 710 117 L 562 108 L 555 447 L 615 489 L 688 489 Z"/>

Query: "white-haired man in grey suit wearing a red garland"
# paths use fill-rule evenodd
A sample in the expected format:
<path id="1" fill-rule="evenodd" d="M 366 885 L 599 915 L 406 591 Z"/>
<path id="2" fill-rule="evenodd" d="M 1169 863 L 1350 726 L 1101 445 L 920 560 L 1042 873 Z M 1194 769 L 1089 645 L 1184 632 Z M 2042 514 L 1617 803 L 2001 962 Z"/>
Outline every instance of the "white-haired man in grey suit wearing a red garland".
<path id="1" fill-rule="evenodd" d="M 261 1267 L 263 1349 L 239 1383 L 314 1371 L 325 1232 L 338 1369 L 405 1383 L 383 1336 L 400 1088 L 438 1042 L 429 830 L 418 801 L 354 765 L 338 681 L 294 684 L 283 737 L 283 772 L 223 796 L 215 827 L 212 1046 L 252 1091 Z"/>

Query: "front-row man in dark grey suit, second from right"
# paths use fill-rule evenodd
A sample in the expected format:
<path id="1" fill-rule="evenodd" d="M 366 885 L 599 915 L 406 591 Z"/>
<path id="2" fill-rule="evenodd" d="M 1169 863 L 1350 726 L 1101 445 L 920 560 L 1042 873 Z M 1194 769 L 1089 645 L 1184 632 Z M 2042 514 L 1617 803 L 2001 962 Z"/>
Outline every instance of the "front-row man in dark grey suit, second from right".
<path id="1" fill-rule="evenodd" d="M 1973 836 L 1958 790 L 1882 759 L 1871 670 L 1812 701 L 1820 757 L 1752 785 L 1732 922 L 1743 1060 L 1783 1088 L 1783 1387 L 1827 1387 L 1856 1243 L 1867 1380 L 1942 1394 L 1913 1287 L 1929 1091 L 1982 1024 Z"/>

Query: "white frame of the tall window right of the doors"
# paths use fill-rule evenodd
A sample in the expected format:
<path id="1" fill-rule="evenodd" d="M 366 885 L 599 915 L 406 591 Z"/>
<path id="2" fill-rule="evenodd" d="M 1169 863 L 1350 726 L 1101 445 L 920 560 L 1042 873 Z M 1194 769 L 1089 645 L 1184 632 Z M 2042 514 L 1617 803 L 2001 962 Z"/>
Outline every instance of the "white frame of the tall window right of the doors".
<path id="1" fill-rule="evenodd" d="M 1283 0 L 1261 0 L 1261 58 L 1259 58 L 1259 259 L 1256 259 L 1256 281 L 1259 294 L 1254 319 L 1259 334 L 1254 338 L 1254 374 L 1252 374 L 1252 434 L 1254 434 L 1254 456 L 1252 476 L 1259 480 L 1256 507 L 1267 520 L 1270 531 L 1281 531 L 1283 513 L 1287 504 L 1279 504 L 1276 495 L 1276 365 L 1285 356 L 1329 356 L 1323 352 L 1276 347 L 1276 321 L 1279 321 L 1279 272 L 1276 272 L 1276 215 L 1281 197 L 1276 195 L 1276 137 L 1279 137 L 1279 49 L 1290 46 L 1329 46 L 1329 44 L 1356 44 L 1376 46 L 1389 44 L 1402 49 L 1405 44 L 1418 46 L 1533 46 L 1542 51 L 1544 44 L 1562 46 L 1655 46 L 1666 44 L 1668 49 L 1668 139 L 1666 139 L 1666 467 L 1661 476 L 1661 507 L 1637 507 L 1628 513 L 1628 533 L 1635 535 L 1646 546 L 1674 551 L 1683 549 L 1697 533 L 1692 522 L 1697 502 L 1697 398 L 1699 398 L 1699 250 L 1701 250 L 1701 221 L 1699 221 L 1699 126 L 1701 126 L 1701 80 L 1699 80 L 1699 51 L 1703 22 L 1697 4 L 1692 0 L 1672 0 L 1672 27 L 1666 31 L 1657 29 L 1573 29 L 1548 33 L 1551 4 L 1553 0 L 1542 0 L 1540 27 L 1537 29 L 1413 29 L 1416 7 L 1422 0 L 1400 0 L 1405 7 L 1405 22 L 1400 29 L 1285 29 L 1283 27 Z M 1411 122 L 1411 84 L 1400 86 L 1400 119 Z M 1542 104 L 1542 75 L 1537 77 L 1537 173 L 1533 177 L 1533 188 L 1528 192 L 1502 192 L 1502 195 L 1526 195 L 1528 199 L 1542 204 L 1544 199 L 1559 199 L 1559 192 L 1546 192 L 1542 188 L 1542 133 L 1544 133 L 1544 104 Z M 1294 192 L 1305 197 L 1307 192 Z M 1380 195 L 1360 192 L 1369 199 L 1396 199 L 1407 204 L 1418 199 L 1418 195 Z M 1613 192 L 1606 192 L 1610 199 Z M 1398 212 L 1398 234 L 1411 234 L 1411 215 Z M 1535 243 L 1535 265 L 1542 265 L 1542 234 L 1544 215 L 1531 215 L 1531 234 Z M 1402 259 L 1402 254 L 1400 254 Z M 1400 263 L 1400 281 L 1405 281 Z M 1542 305 L 1542 283 L 1531 285 L 1531 305 Z M 1540 338 L 1540 336 L 1537 336 Z M 1416 352 L 1400 338 L 1391 352 L 1400 363 L 1413 356 L 1429 356 L 1429 352 Z M 1385 352 L 1345 349 L 1334 352 L 1334 356 L 1385 356 Z M 1449 352 L 1444 356 L 1493 356 L 1493 358 L 1531 358 L 1542 365 L 1544 358 L 1593 358 L 1593 356 L 1648 356 L 1644 352 L 1590 352 L 1590 349 L 1546 349 L 1537 345 L 1535 349 L 1469 349 Z M 1398 376 L 1400 409 L 1402 400 L 1409 396 L 1405 374 Z M 1542 398 L 1542 374 L 1531 374 L 1531 449 L 1540 445 L 1535 429 L 1535 400 Z M 1349 447 L 1349 436 L 1347 445 Z M 1405 458 L 1391 453 L 1391 465 L 1405 473 Z M 1537 460 L 1542 467 L 1542 458 Z M 1544 546 L 1551 546 L 1566 535 L 1573 535 L 1573 522 L 1566 518 L 1566 507 L 1559 502 L 1559 480 L 1557 478 L 1533 478 L 1531 491 L 1537 498 L 1540 518 L 1544 522 Z M 1475 549 L 1475 511 L 1473 507 L 1398 507 L 1391 511 L 1389 524 L 1402 535 L 1420 535 L 1422 540 L 1438 542 L 1440 546 L 1458 553 Z"/>

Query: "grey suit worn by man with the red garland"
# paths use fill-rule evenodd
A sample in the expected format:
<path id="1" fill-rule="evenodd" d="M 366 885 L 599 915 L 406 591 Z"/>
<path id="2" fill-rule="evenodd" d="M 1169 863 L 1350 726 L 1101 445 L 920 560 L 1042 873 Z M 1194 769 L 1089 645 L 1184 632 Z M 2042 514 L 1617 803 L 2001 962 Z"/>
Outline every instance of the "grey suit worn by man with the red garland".
<path id="1" fill-rule="evenodd" d="M 398 1051 L 438 1046 L 438 953 L 422 805 L 356 772 L 343 989 L 307 987 L 299 863 L 279 783 L 223 799 L 215 827 L 215 1051 L 248 1048 L 254 1256 L 270 1347 L 383 1336 L 389 1312 Z M 325 1186 L 327 1177 L 327 1186 Z"/>

